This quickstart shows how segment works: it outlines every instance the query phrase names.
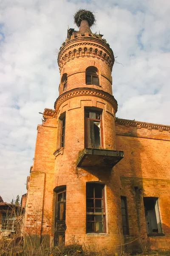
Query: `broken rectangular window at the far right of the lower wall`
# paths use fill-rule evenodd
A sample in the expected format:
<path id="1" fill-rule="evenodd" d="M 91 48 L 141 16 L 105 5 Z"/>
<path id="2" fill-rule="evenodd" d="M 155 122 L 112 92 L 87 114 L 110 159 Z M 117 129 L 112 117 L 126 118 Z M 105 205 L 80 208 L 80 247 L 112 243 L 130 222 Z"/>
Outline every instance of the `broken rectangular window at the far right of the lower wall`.
<path id="1" fill-rule="evenodd" d="M 160 219 L 160 214 L 159 214 L 159 204 L 158 204 L 159 198 L 156 197 L 144 197 L 143 202 L 144 202 L 144 214 L 145 214 L 145 221 L 146 221 L 146 229 L 147 229 L 147 236 L 160 236 L 164 235 L 162 233 L 162 228 L 161 228 L 161 219 Z M 150 201 L 150 205 L 154 204 L 153 209 L 148 209 L 147 201 Z M 152 201 L 152 203 L 151 203 Z M 151 218 L 149 216 L 149 211 L 153 211 L 152 215 L 153 217 Z M 152 224 L 155 222 L 155 227 L 153 228 Z"/>

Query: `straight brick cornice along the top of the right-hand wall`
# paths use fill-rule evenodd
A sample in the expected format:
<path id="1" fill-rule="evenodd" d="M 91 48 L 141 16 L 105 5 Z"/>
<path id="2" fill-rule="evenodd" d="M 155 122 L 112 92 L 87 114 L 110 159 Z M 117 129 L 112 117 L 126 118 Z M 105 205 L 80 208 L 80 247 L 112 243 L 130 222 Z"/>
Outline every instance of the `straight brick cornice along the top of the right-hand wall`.
<path id="1" fill-rule="evenodd" d="M 125 125 L 125 126 L 133 126 L 137 128 L 147 128 L 148 130 L 158 130 L 158 131 L 169 131 L 170 132 L 170 125 L 160 125 L 154 123 L 147 123 L 147 122 L 140 122 L 135 120 L 128 120 L 128 119 L 120 119 L 116 118 L 116 123 L 118 125 Z"/>

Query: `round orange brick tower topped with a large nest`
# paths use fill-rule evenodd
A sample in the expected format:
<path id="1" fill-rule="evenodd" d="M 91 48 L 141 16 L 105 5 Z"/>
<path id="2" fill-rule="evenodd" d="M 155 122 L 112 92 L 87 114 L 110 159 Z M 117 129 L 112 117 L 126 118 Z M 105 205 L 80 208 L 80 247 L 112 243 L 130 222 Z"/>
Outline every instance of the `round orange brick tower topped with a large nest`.
<path id="1" fill-rule="evenodd" d="M 54 244 L 64 238 L 67 243 L 73 236 L 80 243 L 96 243 L 97 234 L 99 245 L 106 247 L 120 240 L 116 218 L 121 215 L 120 181 L 112 167 L 123 152 L 116 150 L 114 55 L 102 35 L 91 32 L 93 13 L 79 10 L 74 20 L 79 31 L 68 29 L 58 55 L 61 79 L 54 105 L 58 116 L 54 192 L 58 205 L 60 193 L 66 193 L 62 198 L 66 211 L 62 231 L 60 219 L 55 220 Z"/>

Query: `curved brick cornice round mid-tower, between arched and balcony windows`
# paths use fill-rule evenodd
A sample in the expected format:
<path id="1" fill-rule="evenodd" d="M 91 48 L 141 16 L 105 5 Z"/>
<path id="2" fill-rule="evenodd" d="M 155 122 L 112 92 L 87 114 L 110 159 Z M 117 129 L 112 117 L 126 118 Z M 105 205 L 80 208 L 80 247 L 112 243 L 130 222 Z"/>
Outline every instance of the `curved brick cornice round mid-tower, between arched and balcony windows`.
<path id="1" fill-rule="evenodd" d="M 103 90 L 96 90 L 96 89 L 92 89 L 92 88 L 76 88 L 73 90 L 69 90 L 65 93 L 62 93 L 62 95 L 60 95 L 56 102 L 54 103 L 54 108 L 56 109 L 56 112 L 58 111 L 59 106 L 62 104 L 62 102 L 64 102 L 67 99 L 71 99 L 73 97 L 77 97 L 77 96 L 95 96 L 98 98 L 102 98 L 107 100 L 108 102 L 111 103 L 111 105 L 113 105 L 114 111 L 117 111 L 117 101 L 116 99 L 109 93 L 104 92 Z"/>

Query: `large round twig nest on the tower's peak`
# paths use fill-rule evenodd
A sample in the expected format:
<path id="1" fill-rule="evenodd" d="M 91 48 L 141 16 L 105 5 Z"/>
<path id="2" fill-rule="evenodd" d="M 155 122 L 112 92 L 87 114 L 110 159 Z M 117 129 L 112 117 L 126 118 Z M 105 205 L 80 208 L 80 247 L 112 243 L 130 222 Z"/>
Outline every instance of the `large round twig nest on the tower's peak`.
<path id="1" fill-rule="evenodd" d="M 74 14 L 74 23 L 80 27 L 80 23 L 82 20 L 87 20 L 88 25 L 91 27 L 94 24 L 96 24 L 96 18 L 93 14 L 93 12 L 85 10 L 85 9 L 79 9 L 75 14 Z"/>

